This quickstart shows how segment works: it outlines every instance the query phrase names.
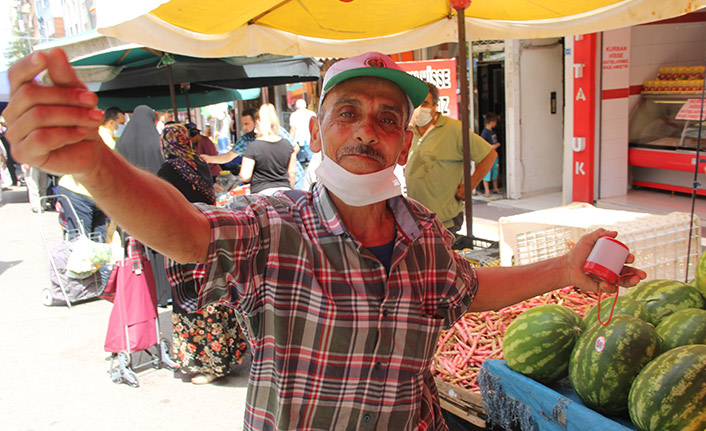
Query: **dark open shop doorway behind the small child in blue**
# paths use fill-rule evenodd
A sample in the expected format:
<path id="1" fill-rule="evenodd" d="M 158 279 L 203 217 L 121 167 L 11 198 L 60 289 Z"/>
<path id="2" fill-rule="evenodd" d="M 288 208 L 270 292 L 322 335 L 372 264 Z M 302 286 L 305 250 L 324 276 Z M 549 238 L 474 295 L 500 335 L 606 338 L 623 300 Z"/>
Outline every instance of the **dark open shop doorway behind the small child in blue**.
<path id="1" fill-rule="evenodd" d="M 480 135 L 480 132 L 485 127 L 483 115 L 488 112 L 494 112 L 498 115 L 498 125 L 495 127 L 495 133 L 498 135 L 498 141 L 501 143 L 498 148 L 498 162 L 500 172 L 498 174 L 498 187 L 501 191 L 507 190 L 506 184 L 506 139 L 505 139 L 505 67 L 504 61 L 482 61 L 476 63 L 475 88 L 476 94 L 476 123 L 475 131 Z M 482 185 L 480 186 L 483 187 Z"/>

